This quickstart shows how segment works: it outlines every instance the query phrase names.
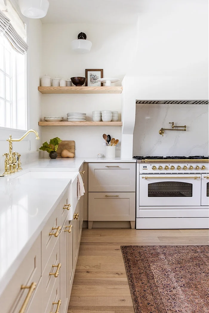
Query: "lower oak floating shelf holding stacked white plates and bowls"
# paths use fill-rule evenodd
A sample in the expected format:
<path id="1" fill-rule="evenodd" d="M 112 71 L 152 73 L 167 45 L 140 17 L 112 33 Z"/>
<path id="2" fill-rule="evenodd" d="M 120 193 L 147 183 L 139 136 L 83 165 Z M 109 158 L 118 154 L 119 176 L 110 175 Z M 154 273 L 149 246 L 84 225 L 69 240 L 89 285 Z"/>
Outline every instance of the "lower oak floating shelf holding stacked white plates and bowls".
<path id="1" fill-rule="evenodd" d="M 39 126 L 122 126 L 123 122 L 39 122 Z"/>

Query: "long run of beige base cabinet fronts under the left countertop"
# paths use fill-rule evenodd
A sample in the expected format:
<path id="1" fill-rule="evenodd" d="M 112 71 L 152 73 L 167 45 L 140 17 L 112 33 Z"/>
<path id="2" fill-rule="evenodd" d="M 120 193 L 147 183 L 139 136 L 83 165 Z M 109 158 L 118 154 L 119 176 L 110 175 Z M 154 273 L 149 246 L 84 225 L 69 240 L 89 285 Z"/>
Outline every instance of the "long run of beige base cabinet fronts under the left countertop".
<path id="1" fill-rule="evenodd" d="M 83 225 L 82 197 L 68 220 L 69 190 L 0 296 L 1 312 L 67 313 Z"/>

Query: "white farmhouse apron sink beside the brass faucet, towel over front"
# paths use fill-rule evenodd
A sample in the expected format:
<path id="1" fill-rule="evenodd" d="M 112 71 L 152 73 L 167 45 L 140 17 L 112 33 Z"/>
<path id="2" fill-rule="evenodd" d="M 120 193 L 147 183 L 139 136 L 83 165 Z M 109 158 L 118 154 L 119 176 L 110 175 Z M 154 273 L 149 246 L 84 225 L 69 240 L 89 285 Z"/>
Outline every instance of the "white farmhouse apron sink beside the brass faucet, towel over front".
<path id="1" fill-rule="evenodd" d="M 77 181 L 78 181 L 78 172 L 18 172 L 13 174 L 11 178 L 15 179 L 71 179 L 71 184 L 69 187 L 69 203 L 71 208 L 68 213 L 68 219 L 71 221 L 73 219 L 73 214 L 75 213 L 76 205 L 78 203 L 77 197 Z"/>

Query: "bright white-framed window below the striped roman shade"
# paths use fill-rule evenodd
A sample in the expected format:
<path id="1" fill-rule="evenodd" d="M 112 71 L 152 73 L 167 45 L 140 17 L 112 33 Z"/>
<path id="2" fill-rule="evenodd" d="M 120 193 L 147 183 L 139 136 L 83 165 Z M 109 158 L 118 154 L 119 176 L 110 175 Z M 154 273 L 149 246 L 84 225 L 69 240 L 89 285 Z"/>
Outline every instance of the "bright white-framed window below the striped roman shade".
<path id="1" fill-rule="evenodd" d="M 25 130 L 25 55 L 0 35 L 0 126 Z"/>

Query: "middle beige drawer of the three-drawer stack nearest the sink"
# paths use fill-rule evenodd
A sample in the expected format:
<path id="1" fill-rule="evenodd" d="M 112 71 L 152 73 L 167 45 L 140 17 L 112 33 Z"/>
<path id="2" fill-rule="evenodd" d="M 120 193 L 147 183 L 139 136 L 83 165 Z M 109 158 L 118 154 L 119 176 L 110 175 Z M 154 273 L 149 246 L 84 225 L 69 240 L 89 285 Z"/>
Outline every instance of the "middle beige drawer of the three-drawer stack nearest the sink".
<path id="1" fill-rule="evenodd" d="M 50 298 L 53 287 L 57 281 L 60 282 L 60 240 L 56 241 L 55 247 L 52 250 L 50 258 L 46 264 L 42 274 L 42 288 L 43 288 L 43 307 L 46 307 Z M 57 277 L 51 274 L 58 274 Z"/>

